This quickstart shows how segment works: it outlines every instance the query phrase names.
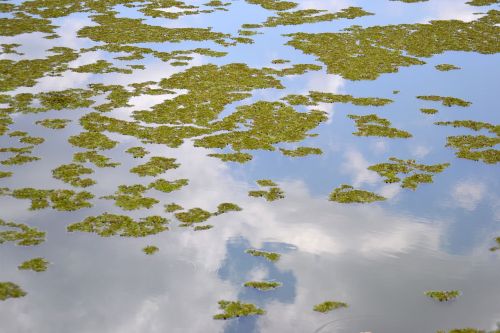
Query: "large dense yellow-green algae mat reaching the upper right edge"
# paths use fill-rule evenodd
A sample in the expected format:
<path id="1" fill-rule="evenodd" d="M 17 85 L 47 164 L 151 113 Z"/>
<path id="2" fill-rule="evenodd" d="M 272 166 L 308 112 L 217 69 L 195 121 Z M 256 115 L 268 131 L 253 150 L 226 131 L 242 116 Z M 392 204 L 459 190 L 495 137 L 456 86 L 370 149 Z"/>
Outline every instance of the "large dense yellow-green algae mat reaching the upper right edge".
<path id="1" fill-rule="evenodd" d="M 471 22 L 459 20 L 387 26 L 351 26 L 335 33 L 293 33 L 287 45 L 315 55 L 327 72 L 349 80 L 375 80 L 399 67 L 425 64 L 446 51 L 499 52 L 499 11 Z"/>

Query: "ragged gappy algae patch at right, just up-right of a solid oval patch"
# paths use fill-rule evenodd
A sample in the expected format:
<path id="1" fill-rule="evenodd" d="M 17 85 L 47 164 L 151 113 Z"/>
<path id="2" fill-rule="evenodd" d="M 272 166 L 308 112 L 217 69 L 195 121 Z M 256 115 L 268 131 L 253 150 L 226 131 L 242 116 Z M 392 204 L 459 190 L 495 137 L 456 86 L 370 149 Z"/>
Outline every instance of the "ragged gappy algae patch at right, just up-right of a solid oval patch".
<path id="1" fill-rule="evenodd" d="M 401 182 L 402 188 L 415 190 L 420 183 L 432 183 L 432 177 L 441 173 L 450 166 L 449 163 L 443 164 L 418 164 L 415 160 L 401 160 L 399 158 L 389 158 L 390 163 L 380 163 L 368 167 L 368 170 L 375 171 L 381 177 L 384 177 L 386 183 Z M 407 175 L 403 180 L 398 174 Z"/>

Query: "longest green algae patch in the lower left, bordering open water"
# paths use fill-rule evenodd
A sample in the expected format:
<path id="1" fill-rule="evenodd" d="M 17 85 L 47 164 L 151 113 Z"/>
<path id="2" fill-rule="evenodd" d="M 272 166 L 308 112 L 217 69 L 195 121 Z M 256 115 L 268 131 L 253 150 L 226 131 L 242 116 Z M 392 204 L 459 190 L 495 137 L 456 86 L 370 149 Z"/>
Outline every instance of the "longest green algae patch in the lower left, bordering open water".
<path id="1" fill-rule="evenodd" d="M 67 230 L 95 233 L 101 237 L 146 237 L 168 230 L 168 222 L 166 218 L 156 215 L 134 221 L 129 216 L 104 213 L 70 224 Z"/>

